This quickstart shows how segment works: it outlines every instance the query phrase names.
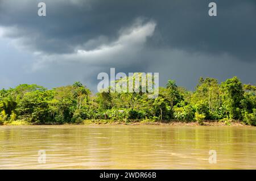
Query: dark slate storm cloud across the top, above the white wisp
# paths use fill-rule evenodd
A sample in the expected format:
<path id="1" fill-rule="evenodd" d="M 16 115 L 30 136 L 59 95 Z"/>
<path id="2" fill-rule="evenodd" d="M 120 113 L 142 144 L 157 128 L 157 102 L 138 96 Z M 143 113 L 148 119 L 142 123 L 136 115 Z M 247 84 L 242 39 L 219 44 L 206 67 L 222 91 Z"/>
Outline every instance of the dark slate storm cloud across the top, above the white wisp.
<path id="1" fill-rule="evenodd" d="M 217 17 L 208 16 L 211 1 L 44 1 L 47 17 L 37 16 L 40 1 L 0 3 L 1 26 L 16 26 L 14 35 L 47 53 L 72 52 L 98 36 L 115 39 L 117 30 L 137 17 L 158 24 L 150 43 L 190 51 L 230 53 L 255 61 L 256 2 L 214 1 Z M 21 8 L 22 7 L 22 8 Z M 31 39 L 31 36 L 34 36 Z"/>

